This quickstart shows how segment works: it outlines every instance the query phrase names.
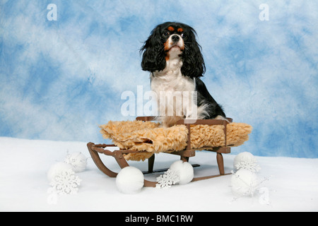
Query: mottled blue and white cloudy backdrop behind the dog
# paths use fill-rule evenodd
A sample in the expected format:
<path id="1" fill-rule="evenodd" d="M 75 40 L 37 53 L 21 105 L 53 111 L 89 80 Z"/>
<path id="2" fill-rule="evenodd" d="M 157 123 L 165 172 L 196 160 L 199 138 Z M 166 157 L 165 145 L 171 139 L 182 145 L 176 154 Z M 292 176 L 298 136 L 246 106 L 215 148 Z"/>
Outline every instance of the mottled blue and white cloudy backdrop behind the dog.
<path id="1" fill-rule="evenodd" d="M 105 142 L 99 124 L 134 119 L 122 93 L 150 89 L 143 41 L 176 20 L 196 29 L 213 97 L 254 127 L 233 153 L 318 157 L 317 11 L 315 0 L 1 0 L 0 136 Z"/>

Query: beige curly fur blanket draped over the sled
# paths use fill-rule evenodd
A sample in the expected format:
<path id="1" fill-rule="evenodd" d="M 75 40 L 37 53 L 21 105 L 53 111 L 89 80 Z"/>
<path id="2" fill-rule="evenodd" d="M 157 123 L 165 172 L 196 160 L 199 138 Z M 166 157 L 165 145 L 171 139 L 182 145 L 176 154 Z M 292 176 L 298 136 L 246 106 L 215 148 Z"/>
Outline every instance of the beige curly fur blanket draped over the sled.
<path id="1" fill-rule="evenodd" d="M 109 121 L 100 126 L 102 136 L 111 139 L 122 149 L 146 150 L 148 153 L 126 155 L 126 160 L 145 160 L 153 153 L 168 150 L 184 150 L 187 146 L 187 126 L 176 125 L 163 128 L 153 121 Z M 220 147 L 225 145 L 223 125 L 192 125 L 191 147 Z M 249 139 L 252 126 L 232 122 L 226 126 L 228 146 L 242 145 Z"/>

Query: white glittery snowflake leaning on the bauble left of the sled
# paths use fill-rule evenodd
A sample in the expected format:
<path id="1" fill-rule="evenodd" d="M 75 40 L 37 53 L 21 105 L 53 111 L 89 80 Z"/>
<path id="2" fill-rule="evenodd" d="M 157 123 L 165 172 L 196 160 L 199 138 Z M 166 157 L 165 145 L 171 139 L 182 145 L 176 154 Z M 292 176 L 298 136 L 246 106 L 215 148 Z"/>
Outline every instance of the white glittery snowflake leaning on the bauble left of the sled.
<path id="1" fill-rule="evenodd" d="M 78 186 L 81 185 L 81 179 L 72 169 L 66 169 L 54 174 L 50 185 L 57 194 L 76 194 Z"/>

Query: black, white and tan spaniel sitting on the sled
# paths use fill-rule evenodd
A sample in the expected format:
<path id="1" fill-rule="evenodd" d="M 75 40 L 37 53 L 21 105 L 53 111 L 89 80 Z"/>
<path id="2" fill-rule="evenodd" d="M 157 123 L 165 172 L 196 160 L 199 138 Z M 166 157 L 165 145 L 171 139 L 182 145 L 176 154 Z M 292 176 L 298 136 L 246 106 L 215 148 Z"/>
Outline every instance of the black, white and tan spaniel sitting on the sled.
<path id="1" fill-rule="evenodd" d="M 184 23 L 157 25 L 140 49 L 141 68 L 151 72 L 151 90 L 158 97 L 164 127 L 179 119 L 225 119 L 199 77 L 206 71 L 194 28 Z"/>

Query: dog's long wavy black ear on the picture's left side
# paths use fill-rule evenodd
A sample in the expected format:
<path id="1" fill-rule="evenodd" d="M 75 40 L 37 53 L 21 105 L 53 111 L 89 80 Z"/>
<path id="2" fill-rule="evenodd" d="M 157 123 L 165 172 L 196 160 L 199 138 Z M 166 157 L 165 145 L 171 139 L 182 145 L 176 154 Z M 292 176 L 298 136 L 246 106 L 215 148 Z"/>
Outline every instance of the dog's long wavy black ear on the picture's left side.
<path id="1" fill-rule="evenodd" d="M 165 69 L 165 49 L 161 42 L 160 25 L 151 31 L 148 40 L 141 47 L 143 52 L 141 68 L 143 71 L 163 71 Z"/>

